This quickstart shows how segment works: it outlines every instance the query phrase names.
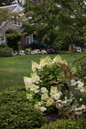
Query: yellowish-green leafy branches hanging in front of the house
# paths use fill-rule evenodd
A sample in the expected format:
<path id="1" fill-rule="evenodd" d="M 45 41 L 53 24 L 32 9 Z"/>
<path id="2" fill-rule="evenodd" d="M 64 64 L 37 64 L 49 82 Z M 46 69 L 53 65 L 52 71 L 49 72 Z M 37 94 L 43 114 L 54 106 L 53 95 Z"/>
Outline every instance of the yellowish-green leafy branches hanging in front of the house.
<path id="1" fill-rule="evenodd" d="M 2 3 L 2 0 L 0 1 L 0 4 L 5 5 L 5 2 L 7 2 L 8 4 L 11 3 L 13 0 L 4 0 Z M 21 17 L 18 18 L 18 15 L 21 15 Z M 8 8 L 0 8 L 0 23 L 2 25 L 2 23 L 4 22 L 5 26 L 8 25 L 8 23 L 17 23 L 17 22 L 22 22 L 22 19 L 24 19 L 25 17 L 23 17 L 23 11 L 19 11 L 19 12 L 10 12 Z M 8 30 L 7 34 L 2 34 L 1 36 L 7 36 L 7 37 L 20 37 L 22 35 L 24 35 L 25 33 L 21 33 L 20 30 Z"/>

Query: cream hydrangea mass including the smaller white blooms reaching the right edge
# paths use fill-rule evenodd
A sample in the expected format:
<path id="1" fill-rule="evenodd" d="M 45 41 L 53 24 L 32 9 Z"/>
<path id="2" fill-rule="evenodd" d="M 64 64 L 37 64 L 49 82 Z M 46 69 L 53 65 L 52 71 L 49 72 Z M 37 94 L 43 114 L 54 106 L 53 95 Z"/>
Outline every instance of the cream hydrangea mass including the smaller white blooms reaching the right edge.
<path id="1" fill-rule="evenodd" d="M 32 61 L 31 77 L 24 77 L 27 99 L 42 112 L 56 107 L 59 111 L 82 114 L 86 111 L 82 92 L 86 87 L 73 75 L 66 60 L 59 55 L 53 60 L 47 56 L 40 63 Z M 78 96 L 78 98 L 77 98 Z"/>

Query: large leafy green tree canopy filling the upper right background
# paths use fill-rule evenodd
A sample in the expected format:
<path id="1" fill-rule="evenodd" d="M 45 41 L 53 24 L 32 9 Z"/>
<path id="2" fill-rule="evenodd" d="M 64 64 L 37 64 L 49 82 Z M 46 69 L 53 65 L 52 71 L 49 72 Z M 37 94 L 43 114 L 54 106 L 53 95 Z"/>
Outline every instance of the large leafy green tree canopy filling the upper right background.
<path id="1" fill-rule="evenodd" d="M 32 18 L 24 24 L 24 31 L 30 29 L 30 33 L 36 33 L 41 42 L 46 41 L 50 45 L 60 42 L 68 46 L 71 43 L 66 41 L 68 36 L 73 43 L 77 41 L 76 45 L 83 44 L 81 37 L 86 28 L 84 0 L 43 0 L 39 4 L 29 1 L 25 12 Z"/>

